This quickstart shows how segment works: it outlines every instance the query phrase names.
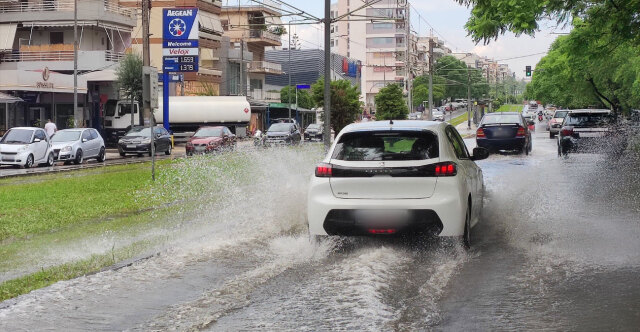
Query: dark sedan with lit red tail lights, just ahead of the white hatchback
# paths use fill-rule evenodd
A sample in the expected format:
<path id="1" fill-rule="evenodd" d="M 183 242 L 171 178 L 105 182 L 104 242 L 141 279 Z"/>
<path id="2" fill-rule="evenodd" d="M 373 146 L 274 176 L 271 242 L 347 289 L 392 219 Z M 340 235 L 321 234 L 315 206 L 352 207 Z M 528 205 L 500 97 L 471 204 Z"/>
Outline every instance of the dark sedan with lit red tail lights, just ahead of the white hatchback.
<path id="1" fill-rule="evenodd" d="M 478 125 L 476 142 L 489 151 L 531 152 L 531 132 L 520 113 L 488 113 Z"/>

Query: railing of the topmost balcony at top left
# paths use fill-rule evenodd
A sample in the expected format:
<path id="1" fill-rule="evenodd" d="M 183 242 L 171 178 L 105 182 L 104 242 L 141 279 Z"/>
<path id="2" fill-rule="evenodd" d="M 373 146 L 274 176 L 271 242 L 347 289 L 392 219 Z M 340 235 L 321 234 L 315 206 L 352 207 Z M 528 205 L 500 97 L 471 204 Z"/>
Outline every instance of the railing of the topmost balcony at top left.
<path id="1" fill-rule="evenodd" d="M 83 5 L 96 5 L 99 2 L 82 1 L 78 2 L 78 7 Z M 128 16 L 136 17 L 136 10 L 132 8 L 122 7 L 115 3 L 102 1 L 102 6 L 106 11 Z M 0 4 L 0 13 L 22 13 L 22 12 L 46 12 L 46 11 L 73 11 L 74 2 L 70 0 L 49 0 L 42 2 L 16 2 Z"/>

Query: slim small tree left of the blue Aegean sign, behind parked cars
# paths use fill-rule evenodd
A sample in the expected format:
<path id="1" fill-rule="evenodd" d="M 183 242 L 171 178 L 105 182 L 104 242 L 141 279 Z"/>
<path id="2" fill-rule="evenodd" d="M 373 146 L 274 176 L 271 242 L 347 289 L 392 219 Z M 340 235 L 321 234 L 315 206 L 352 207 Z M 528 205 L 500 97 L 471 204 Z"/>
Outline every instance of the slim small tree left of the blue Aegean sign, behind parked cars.
<path id="1" fill-rule="evenodd" d="M 117 84 L 124 95 L 131 100 L 131 126 L 135 125 L 135 99 L 142 100 L 142 58 L 133 53 L 127 54 L 116 71 Z"/>

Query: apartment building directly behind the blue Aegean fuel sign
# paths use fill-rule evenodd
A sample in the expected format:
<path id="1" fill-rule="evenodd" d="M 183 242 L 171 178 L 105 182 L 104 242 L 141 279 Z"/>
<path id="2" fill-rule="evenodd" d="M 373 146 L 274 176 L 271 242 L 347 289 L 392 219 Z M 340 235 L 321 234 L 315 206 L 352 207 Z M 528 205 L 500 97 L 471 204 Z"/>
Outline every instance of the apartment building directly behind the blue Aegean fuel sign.
<path id="1" fill-rule="evenodd" d="M 149 54 L 151 66 L 162 69 L 162 12 L 165 8 L 195 7 L 198 8 L 198 72 L 184 73 L 184 94 L 194 95 L 205 90 L 220 93 L 222 71 L 220 70 L 220 41 L 222 38 L 222 24 L 220 0 L 151 0 L 149 18 Z M 120 0 L 121 6 L 140 11 L 138 0 Z M 134 33 L 132 35 L 133 52 L 142 55 L 142 16 L 138 15 Z M 177 87 L 176 87 L 177 88 Z M 171 94 L 178 94 L 176 90 Z"/>

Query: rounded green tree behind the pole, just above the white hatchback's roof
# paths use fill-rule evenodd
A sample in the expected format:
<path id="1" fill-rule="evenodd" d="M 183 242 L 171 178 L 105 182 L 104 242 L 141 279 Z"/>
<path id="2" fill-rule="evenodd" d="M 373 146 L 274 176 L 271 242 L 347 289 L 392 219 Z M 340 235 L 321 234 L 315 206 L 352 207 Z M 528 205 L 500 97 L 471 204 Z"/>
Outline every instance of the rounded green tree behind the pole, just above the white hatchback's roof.
<path id="1" fill-rule="evenodd" d="M 324 105 L 324 78 L 311 86 L 312 99 L 318 107 Z M 331 81 L 331 127 L 336 133 L 353 123 L 362 113 L 360 88 L 347 80 Z"/>

